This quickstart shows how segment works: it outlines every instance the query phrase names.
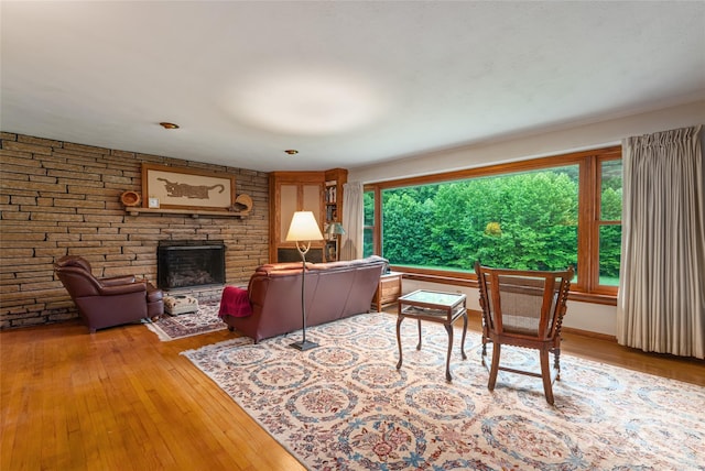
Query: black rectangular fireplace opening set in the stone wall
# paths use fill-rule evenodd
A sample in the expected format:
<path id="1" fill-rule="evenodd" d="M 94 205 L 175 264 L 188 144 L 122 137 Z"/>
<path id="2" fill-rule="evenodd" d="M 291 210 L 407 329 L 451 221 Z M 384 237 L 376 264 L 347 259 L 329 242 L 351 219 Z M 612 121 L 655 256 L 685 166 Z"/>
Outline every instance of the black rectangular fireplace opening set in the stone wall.
<path id="1" fill-rule="evenodd" d="M 224 285 L 224 241 L 160 241 L 156 248 L 156 281 L 164 291 Z"/>

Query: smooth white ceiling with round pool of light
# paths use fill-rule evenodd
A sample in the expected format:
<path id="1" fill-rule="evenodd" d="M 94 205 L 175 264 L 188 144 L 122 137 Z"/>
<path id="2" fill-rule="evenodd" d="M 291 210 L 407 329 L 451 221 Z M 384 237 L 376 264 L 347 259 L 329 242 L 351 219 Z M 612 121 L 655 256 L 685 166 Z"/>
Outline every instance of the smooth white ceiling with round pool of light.
<path id="1" fill-rule="evenodd" d="M 0 15 L 3 131 L 262 172 L 705 97 L 703 1 L 3 0 Z"/>

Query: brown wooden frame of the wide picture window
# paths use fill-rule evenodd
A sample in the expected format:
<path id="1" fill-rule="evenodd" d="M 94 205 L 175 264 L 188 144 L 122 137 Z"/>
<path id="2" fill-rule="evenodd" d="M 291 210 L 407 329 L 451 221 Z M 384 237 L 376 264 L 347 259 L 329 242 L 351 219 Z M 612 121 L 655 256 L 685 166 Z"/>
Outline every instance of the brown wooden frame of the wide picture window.
<path id="1" fill-rule="evenodd" d="M 578 234 L 577 234 L 577 282 L 571 286 L 571 298 L 598 304 L 616 304 L 617 287 L 599 285 L 599 227 L 621 223 L 621 221 L 601 221 L 600 164 L 605 161 L 620 160 L 621 145 L 577 151 L 546 157 L 491 164 L 460 171 L 397 178 L 366 184 L 364 191 L 372 191 L 375 197 L 375 224 L 372 228 L 373 252 L 381 254 L 382 247 L 382 200 L 381 191 L 409 186 L 448 183 L 459 179 L 497 176 L 527 171 L 540 171 L 566 165 L 577 165 L 578 177 Z M 383 256 L 383 254 L 381 254 Z M 392 265 L 394 271 L 403 272 L 404 277 L 441 284 L 477 286 L 475 273 L 441 271 L 433 269 Z"/>

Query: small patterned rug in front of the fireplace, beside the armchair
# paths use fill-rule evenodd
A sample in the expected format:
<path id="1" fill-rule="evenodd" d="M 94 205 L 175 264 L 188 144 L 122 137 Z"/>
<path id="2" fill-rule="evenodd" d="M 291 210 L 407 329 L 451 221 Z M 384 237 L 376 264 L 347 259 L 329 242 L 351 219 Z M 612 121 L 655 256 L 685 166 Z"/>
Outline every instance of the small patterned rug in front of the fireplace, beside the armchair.
<path id="1" fill-rule="evenodd" d="M 162 341 L 223 330 L 228 326 L 218 317 L 219 307 L 219 303 L 203 304 L 198 306 L 197 313 L 180 316 L 165 314 L 156 322 L 148 322 L 145 326 Z"/>

